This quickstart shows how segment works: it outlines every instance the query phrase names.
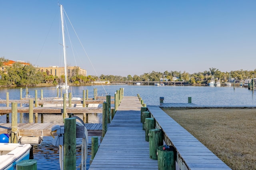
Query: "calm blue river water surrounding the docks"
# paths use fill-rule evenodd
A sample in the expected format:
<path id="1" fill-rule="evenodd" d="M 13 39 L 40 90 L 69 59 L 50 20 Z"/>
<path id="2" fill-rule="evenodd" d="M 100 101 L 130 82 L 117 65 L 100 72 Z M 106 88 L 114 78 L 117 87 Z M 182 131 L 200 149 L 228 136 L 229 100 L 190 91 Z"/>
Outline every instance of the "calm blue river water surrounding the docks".
<path id="1" fill-rule="evenodd" d="M 140 94 L 142 100 L 147 105 L 159 105 L 159 98 L 164 97 L 164 103 L 187 103 L 188 97 L 192 97 L 192 103 L 198 105 L 227 105 L 227 106 L 252 106 L 256 105 L 256 94 L 247 88 L 236 87 L 199 87 L 199 86 L 76 86 L 73 87 L 72 94 L 76 97 L 82 97 L 82 90 L 89 91 L 89 97 L 93 97 L 93 88 L 98 89 L 99 96 L 114 96 L 116 90 L 124 88 L 124 96 L 137 96 Z M 43 89 L 44 97 L 57 96 L 55 87 L 34 87 L 29 88 L 29 95 L 34 96 L 34 90 L 38 91 L 38 98 Z M 106 90 L 106 92 L 105 92 Z M 10 100 L 20 98 L 20 88 L 0 88 L 0 98 L 6 99 L 6 92 L 9 92 Z M 26 95 L 25 89 L 22 96 Z M 54 121 L 53 121 L 54 120 Z M 18 117 L 20 122 L 28 122 L 28 115 Z M 40 117 L 38 114 L 38 122 L 61 122 L 61 116 L 50 115 Z M 101 123 L 102 114 L 91 114 L 87 123 Z M 6 123 L 6 116 L 0 116 L 0 123 Z M 44 137 L 44 141 L 34 146 L 34 159 L 37 160 L 38 170 L 56 169 L 59 170 L 58 147 L 52 145 L 52 137 Z M 79 141 L 78 141 L 79 142 Z M 90 160 L 91 139 L 89 138 L 89 155 L 87 159 L 87 169 Z M 79 153 L 77 157 L 80 159 Z"/>

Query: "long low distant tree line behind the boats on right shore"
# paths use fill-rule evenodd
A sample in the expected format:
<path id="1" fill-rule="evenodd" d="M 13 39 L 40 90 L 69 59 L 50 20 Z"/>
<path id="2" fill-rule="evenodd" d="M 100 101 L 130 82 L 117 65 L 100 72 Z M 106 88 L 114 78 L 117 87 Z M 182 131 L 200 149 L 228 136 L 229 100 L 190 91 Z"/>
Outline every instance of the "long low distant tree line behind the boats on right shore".
<path id="1" fill-rule="evenodd" d="M 215 80 L 220 80 L 221 82 L 228 82 L 229 78 L 234 79 L 236 82 L 241 82 L 242 80 L 252 78 L 255 73 L 256 73 L 256 69 L 253 71 L 236 70 L 231 72 L 221 72 L 217 68 L 209 68 L 209 70 L 205 70 L 204 72 L 197 72 L 193 74 L 189 74 L 188 72 L 185 72 L 185 71 L 169 72 L 167 70 L 165 72 L 152 71 L 149 73 L 144 73 L 140 76 L 128 75 L 126 77 L 102 74 L 100 75 L 100 80 L 138 82 L 138 81 L 160 81 L 160 78 L 166 78 L 168 79 L 168 81 L 184 81 L 192 85 L 202 85 L 202 84 L 207 84 L 212 77 L 214 77 Z"/>

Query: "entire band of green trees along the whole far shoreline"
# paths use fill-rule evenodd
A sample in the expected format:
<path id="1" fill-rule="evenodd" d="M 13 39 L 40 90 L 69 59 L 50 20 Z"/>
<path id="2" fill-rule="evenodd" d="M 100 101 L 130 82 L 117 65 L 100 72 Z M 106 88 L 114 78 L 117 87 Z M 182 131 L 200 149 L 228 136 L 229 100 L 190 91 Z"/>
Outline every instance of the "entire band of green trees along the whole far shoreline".
<path id="1" fill-rule="evenodd" d="M 14 63 L 12 66 L 4 66 L 4 62 L 8 61 L 4 57 L 0 57 L 0 85 L 1 86 L 36 86 L 36 85 L 56 85 L 59 82 L 64 81 L 64 75 L 58 77 L 50 74 L 50 72 L 42 72 L 37 67 L 32 65 L 23 65 L 20 63 Z M 231 72 L 221 72 L 216 68 L 209 68 L 203 72 L 197 72 L 190 74 L 186 71 L 164 71 L 156 72 L 152 71 L 138 75 L 128 76 L 116 76 L 116 75 L 104 75 L 101 74 L 99 78 L 97 76 L 83 76 L 78 74 L 78 70 L 72 72 L 72 76 L 68 76 L 68 83 L 72 85 L 90 85 L 95 80 L 102 81 L 120 81 L 120 82 L 138 82 L 138 81 L 160 81 L 160 78 L 166 78 L 168 81 L 183 81 L 185 84 L 190 85 L 207 85 L 212 76 L 216 80 L 220 80 L 222 83 L 228 82 L 229 77 L 232 81 L 242 82 L 247 78 L 253 78 L 256 69 L 252 71 L 248 70 L 236 70 Z"/>

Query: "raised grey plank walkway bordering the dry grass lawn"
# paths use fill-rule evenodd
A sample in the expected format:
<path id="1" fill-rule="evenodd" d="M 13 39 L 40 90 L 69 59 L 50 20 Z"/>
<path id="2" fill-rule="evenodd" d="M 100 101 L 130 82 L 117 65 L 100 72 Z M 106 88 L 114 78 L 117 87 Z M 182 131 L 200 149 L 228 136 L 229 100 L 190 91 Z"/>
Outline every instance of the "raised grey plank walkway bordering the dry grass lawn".
<path id="1" fill-rule="evenodd" d="M 195 104 L 166 104 L 160 107 L 197 108 Z M 159 106 L 148 106 L 151 117 L 156 120 L 156 127 L 164 132 L 164 141 L 174 146 L 176 162 L 184 170 L 230 170 L 215 154 L 198 139 L 167 115 Z M 200 107 L 202 108 L 202 107 Z M 205 107 L 204 107 L 205 108 Z"/>

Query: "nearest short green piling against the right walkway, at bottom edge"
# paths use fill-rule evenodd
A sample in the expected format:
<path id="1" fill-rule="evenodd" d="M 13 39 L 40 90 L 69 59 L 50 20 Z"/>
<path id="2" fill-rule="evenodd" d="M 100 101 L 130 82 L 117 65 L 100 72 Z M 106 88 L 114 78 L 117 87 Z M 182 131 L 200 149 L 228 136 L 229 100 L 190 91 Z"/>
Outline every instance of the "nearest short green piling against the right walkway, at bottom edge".
<path id="1" fill-rule="evenodd" d="M 163 149 L 164 146 L 160 146 L 157 149 L 158 152 L 158 170 L 175 170 L 175 149 L 173 146 L 169 146 L 169 149 Z"/>

